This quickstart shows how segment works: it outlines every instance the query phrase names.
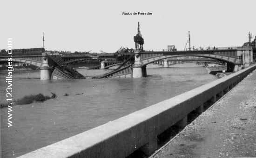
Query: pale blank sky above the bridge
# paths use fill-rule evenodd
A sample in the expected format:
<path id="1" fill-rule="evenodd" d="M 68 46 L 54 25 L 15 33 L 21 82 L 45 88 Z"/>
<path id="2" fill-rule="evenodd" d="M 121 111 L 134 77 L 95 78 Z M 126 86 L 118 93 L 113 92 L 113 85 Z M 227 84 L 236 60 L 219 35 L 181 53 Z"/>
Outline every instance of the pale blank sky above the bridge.
<path id="1" fill-rule="evenodd" d="M 1 0 L 0 48 L 115 52 L 135 48 L 141 24 L 145 50 L 242 46 L 256 36 L 256 0 Z M 152 15 L 122 15 L 150 12 Z"/>

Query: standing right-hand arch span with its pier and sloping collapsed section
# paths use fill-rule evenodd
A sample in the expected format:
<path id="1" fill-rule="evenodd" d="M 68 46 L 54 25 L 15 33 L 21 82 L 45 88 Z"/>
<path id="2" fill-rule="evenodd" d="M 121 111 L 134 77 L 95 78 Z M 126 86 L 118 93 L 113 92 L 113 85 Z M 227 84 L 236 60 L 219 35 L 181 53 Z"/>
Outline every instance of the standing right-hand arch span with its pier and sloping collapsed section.
<path id="1" fill-rule="evenodd" d="M 126 69 L 115 70 L 105 77 L 127 77 L 134 78 L 147 76 L 146 66 L 168 58 L 176 57 L 204 57 L 216 60 L 220 63 L 227 63 L 228 72 L 236 72 L 243 68 L 249 67 L 253 62 L 252 47 L 233 47 L 232 49 L 214 49 L 214 50 L 195 50 L 195 51 L 140 51 L 135 50 L 135 62 L 133 65 L 127 66 Z M 169 59 L 174 60 L 174 59 Z M 195 61 L 198 60 L 197 58 Z M 103 76 L 102 76 L 103 77 Z M 102 78 L 101 77 L 101 78 Z"/>

